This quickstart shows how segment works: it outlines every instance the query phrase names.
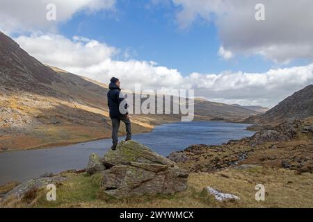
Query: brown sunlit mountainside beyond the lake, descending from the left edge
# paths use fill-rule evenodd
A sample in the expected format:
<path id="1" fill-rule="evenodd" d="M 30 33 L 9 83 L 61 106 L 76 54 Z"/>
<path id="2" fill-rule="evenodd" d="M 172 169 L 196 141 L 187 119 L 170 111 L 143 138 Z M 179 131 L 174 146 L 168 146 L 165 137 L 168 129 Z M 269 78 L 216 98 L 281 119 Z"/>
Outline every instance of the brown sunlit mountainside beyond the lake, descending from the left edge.
<path id="1" fill-rule="evenodd" d="M 0 151 L 111 137 L 107 92 L 106 84 L 43 65 L 0 32 Z M 243 120 L 253 114 L 258 112 L 195 100 L 195 120 Z M 177 114 L 134 114 L 133 131 L 180 120 Z"/>

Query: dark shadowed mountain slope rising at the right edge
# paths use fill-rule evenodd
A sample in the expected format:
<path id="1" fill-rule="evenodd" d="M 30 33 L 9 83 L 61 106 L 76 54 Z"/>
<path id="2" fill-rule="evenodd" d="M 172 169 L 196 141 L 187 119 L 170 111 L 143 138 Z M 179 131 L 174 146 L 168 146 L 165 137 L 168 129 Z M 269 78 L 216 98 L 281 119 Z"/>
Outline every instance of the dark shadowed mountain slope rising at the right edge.
<path id="1" fill-rule="evenodd" d="M 313 85 L 295 92 L 265 114 L 249 117 L 249 123 L 273 125 L 288 119 L 305 119 L 313 116 Z"/>

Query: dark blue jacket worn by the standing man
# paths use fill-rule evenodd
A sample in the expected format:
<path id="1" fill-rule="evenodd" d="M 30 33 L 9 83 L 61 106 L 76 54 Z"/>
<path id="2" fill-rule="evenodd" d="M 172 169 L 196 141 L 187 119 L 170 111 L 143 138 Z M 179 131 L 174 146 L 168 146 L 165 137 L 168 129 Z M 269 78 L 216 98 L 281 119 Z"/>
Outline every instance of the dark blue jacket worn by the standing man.
<path id="1" fill-rule="evenodd" d="M 124 101 L 124 96 L 122 95 L 122 92 L 120 92 L 120 87 L 115 85 L 115 83 L 110 83 L 109 85 L 109 92 L 108 92 L 108 106 L 110 110 L 110 117 L 112 118 L 118 118 L 122 114 L 120 113 L 120 103 Z M 127 103 L 125 103 L 125 109 L 127 109 Z M 125 114 L 128 114 L 126 112 Z"/>

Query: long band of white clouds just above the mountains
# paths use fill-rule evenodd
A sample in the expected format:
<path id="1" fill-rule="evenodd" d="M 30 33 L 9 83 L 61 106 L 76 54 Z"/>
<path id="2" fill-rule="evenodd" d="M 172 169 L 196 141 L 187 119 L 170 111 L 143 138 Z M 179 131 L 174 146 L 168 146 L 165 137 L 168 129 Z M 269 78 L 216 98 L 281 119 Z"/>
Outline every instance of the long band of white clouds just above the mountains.
<path id="1" fill-rule="evenodd" d="M 156 62 L 114 60 L 120 50 L 85 37 L 67 39 L 61 35 L 31 35 L 15 39 L 31 56 L 74 74 L 108 83 L 112 76 L 122 87 L 134 89 L 195 89 L 195 96 L 211 101 L 242 105 L 273 106 L 298 89 L 313 83 L 313 64 L 271 69 L 264 73 L 225 71 L 220 74 L 192 73 L 182 76 L 177 69 Z"/>

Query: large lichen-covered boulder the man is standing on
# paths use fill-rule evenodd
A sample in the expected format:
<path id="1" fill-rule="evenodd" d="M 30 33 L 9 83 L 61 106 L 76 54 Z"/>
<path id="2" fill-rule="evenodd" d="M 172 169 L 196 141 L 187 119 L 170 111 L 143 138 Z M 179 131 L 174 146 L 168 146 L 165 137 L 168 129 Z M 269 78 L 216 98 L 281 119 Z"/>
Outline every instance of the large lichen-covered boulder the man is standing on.
<path id="1" fill-rule="evenodd" d="M 121 142 L 104 155 L 113 167 L 103 171 L 105 194 L 125 198 L 144 194 L 174 194 L 187 187 L 188 173 L 175 162 L 134 141 Z"/>

